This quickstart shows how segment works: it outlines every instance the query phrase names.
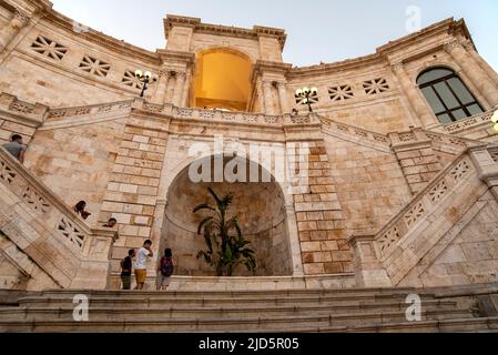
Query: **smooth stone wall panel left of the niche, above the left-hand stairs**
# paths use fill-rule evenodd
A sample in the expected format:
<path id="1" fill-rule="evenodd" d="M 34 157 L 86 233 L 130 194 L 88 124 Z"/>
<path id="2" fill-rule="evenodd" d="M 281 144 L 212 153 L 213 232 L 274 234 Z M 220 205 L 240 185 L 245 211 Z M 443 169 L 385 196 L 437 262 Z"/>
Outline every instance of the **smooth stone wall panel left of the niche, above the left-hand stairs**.
<path id="1" fill-rule="evenodd" d="M 96 224 L 123 131 L 123 119 L 38 130 L 24 165 L 68 205 L 87 201 L 88 222 Z"/>

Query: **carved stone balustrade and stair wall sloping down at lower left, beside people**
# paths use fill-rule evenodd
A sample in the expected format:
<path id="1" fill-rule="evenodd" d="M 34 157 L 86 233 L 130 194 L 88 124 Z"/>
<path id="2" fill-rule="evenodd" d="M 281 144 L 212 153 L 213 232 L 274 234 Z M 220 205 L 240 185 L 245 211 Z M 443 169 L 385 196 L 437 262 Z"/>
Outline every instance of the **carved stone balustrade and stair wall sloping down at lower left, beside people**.
<path id="1" fill-rule="evenodd" d="M 105 288 L 115 231 L 92 229 L 0 148 L 0 230 L 64 288 Z"/>

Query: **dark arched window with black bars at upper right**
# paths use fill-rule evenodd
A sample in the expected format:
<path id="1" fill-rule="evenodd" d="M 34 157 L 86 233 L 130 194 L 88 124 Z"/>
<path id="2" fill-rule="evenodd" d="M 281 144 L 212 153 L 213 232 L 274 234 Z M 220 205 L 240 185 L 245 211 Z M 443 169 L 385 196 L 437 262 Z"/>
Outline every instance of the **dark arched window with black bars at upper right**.
<path id="1" fill-rule="evenodd" d="M 476 98 L 450 69 L 429 69 L 418 77 L 417 84 L 443 124 L 484 112 Z"/>

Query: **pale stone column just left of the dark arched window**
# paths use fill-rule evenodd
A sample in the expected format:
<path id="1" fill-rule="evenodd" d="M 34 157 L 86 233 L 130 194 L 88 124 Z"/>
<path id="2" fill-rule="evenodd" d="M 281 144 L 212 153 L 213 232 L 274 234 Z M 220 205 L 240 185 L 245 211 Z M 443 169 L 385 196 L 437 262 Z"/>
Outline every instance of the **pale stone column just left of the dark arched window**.
<path id="1" fill-rule="evenodd" d="M 403 62 L 393 63 L 390 68 L 402 84 L 403 91 L 408 98 L 408 101 L 417 115 L 419 121 L 418 123 L 424 128 L 434 124 L 434 113 L 428 103 L 426 103 L 420 97 L 421 92 L 419 92 L 418 88 L 409 79 Z"/>

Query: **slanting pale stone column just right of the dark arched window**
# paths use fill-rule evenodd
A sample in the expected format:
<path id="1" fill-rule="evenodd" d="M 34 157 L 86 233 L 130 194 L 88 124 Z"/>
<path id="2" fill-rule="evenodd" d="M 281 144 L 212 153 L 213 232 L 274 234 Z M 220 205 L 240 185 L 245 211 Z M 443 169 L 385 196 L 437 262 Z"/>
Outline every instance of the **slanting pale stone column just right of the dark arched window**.
<path id="1" fill-rule="evenodd" d="M 445 50 L 460 65 L 477 90 L 488 100 L 491 108 L 498 106 L 498 90 L 496 90 L 496 85 L 464 49 L 461 43 L 458 40 L 451 41 L 445 44 Z"/>

